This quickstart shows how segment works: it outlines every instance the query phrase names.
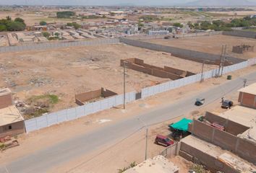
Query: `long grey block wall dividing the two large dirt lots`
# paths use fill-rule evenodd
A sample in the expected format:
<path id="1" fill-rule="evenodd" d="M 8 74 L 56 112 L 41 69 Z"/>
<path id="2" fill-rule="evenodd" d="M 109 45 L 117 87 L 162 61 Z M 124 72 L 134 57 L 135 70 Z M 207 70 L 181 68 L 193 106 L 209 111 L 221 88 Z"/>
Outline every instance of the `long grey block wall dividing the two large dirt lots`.
<path id="1" fill-rule="evenodd" d="M 179 58 L 184 58 L 184 59 L 191 60 L 191 61 L 197 61 L 200 63 L 202 63 L 202 61 L 207 61 L 205 63 L 218 65 L 217 61 L 219 61 L 219 59 L 220 59 L 220 56 L 212 54 L 212 53 L 202 53 L 202 52 L 198 52 L 195 50 L 187 50 L 187 49 L 175 48 L 175 47 L 166 46 L 166 45 L 147 43 L 147 42 L 141 41 L 141 40 L 130 40 L 130 39 L 127 39 L 124 37 L 120 38 L 120 42 L 125 43 L 127 45 L 140 47 L 140 48 L 147 48 L 150 50 L 171 53 L 173 56 L 176 56 Z M 245 61 L 244 59 L 234 58 L 234 57 L 230 57 L 230 56 L 228 56 L 226 58 L 230 64 L 231 63 L 241 63 L 241 62 Z"/>

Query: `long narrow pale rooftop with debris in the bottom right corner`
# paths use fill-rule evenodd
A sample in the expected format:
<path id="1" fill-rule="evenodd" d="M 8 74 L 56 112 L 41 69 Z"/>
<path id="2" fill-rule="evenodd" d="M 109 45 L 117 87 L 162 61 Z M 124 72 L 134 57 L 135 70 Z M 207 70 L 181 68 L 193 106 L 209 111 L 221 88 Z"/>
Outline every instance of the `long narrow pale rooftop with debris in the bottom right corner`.
<path id="1" fill-rule="evenodd" d="M 186 143 L 187 145 L 192 146 L 192 148 L 196 148 L 205 154 L 213 156 L 216 159 L 229 164 L 230 167 L 234 167 L 240 172 L 253 172 L 256 170 L 255 165 L 250 164 L 248 161 L 245 161 L 239 156 L 213 145 L 213 143 L 208 143 L 195 136 L 187 136 L 186 138 L 183 138 L 182 143 Z"/>

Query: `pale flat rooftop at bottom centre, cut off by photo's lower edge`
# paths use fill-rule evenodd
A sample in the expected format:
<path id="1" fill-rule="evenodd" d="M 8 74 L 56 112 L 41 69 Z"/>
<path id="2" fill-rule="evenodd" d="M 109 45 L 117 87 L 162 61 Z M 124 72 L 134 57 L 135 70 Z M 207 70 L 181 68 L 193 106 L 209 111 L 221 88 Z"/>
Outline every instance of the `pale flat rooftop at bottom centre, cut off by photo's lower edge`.
<path id="1" fill-rule="evenodd" d="M 179 172 L 179 167 L 168 161 L 163 156 L 155 156 L 153 159 L 147 159 L 136 167 L 128 169 L 125 173 L 176 173 Z"/>

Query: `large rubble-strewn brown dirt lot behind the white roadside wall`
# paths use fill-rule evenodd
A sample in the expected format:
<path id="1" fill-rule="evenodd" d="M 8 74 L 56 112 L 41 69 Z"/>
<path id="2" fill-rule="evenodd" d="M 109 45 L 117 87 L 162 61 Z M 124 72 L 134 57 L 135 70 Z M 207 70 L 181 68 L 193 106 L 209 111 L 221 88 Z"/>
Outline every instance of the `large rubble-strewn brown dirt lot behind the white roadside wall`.
<path id="1" fill-rule="evenodd" d="M 21 100 L 33 95 L 56 94 L 61 101 L 52 111 L 75 106 L 74 94 L 80 92 L 104 87 L 122 93 L 122 58 L 141 58 L 155 66 L 195 73 L 202 68 L 201 63 L 124 44 L 1 53 L 0 56 L 0 87 L 10 86 Z M 205 71 L 213 68 L 217 66 L 207 65 Z M 127 69 L 127 92 L 168 80 Z"/>

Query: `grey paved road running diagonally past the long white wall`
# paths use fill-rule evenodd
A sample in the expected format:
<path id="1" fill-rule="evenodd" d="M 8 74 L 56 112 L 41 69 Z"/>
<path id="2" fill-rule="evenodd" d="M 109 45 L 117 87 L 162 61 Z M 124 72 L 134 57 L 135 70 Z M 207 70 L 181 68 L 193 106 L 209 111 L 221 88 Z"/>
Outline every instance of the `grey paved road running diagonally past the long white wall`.
<path id="1" fill-rule="evenodd" d="M 248 79 L 248 84 L 253 83 L 256 81 L 256 72 L 243 76 L 243 79 L 244 78 Z M 108 125 L 77 138 L 72 138 L 67 141 L 57 143 L 54 146 L 12 161 L 7 165 L 0 166 L 0 172 L 47 172 L 47 170 L 64 164 L 70 159 L 74 159 L 78 156 L 87 154 L 90 151 L 94 151 L 109 141 L 128 136 L 135 130 L 138 130 L 144 126 L 140 120 L 150 125 L 153 123 L 162 122 L 164 120 L 169 120 L 172 117 L 185 115 L 186 113 L 197 109 L 197 107 L 194 105 L 197 97 L 205 98 L 205 104 L 214 102 L 217 99 L 221 100 L 221 97 L 223 97 L 224 94 L 235 92 L 237 89 L 242 88 L 243 79 L 239 78 L 226 81 L 224 84 L 215 86 L 206 92 L 197 93 L 189 98 L 179 99 L 177 102 L 166 107 L 150 110 L 150 112 L 129 117 L 125 120 L 121 120 L 118 123 Z M 140 118 L 140 120 L 138 120 L 138 118 Z M 74 143 L 74 141 L 76 142 Z"/>

